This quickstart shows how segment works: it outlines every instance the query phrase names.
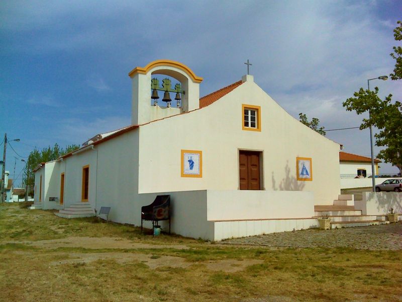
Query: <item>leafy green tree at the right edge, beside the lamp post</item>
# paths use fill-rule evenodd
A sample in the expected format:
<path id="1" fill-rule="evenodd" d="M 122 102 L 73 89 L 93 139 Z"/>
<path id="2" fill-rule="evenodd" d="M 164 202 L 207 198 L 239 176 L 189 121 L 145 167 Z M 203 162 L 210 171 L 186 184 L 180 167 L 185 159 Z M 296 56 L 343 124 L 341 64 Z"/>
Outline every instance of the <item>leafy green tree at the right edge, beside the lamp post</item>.
<path id="1" fill-rule="evenodd" d="M 398 21 L 398 27 L 394 29 L 395 41 L 402 40 L 402 26 Z M 393 47 L 391 53 L 395 62 L 394 73 L 390 74 L 392 80 L 402 79 L 402 48 Z M 353 94 L 354 97 L 343 102 L 343 107 L 348 111 L 356 111 L 357 114 L 369 112 L 369 118 L 364 118 L 360 130 L 377 127 L 380 132 L 375 134 L 375 144 L 384 147 L 377 157 L 385 163 L 391 163 L 402 173 L 402 104 L 399 101 L 392 102 L 392 95 L 381 100 L 378 97 L 378 87 L 374 91 L 360 88 Z"/>

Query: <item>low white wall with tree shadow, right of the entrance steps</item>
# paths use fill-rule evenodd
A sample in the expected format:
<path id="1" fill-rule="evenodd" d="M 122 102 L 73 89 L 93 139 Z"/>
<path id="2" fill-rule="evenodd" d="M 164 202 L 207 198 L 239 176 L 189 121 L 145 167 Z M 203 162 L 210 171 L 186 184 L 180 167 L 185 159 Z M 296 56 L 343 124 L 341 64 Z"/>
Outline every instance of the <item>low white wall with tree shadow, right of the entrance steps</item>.
<path id="1" fill-rule="evenodd" d="M 363 215 L 385 215 L 393 208 L 402 214 L 402 193 L 400 192 L 363 192 L 362 200 L 355 200 L 355 209 Z"/>

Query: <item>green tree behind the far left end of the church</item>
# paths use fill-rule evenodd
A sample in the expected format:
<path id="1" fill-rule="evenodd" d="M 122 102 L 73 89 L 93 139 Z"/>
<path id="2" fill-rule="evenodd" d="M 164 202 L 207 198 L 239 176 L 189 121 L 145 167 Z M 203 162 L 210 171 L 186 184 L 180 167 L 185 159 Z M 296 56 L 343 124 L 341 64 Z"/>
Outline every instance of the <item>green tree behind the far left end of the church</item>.
<path id="1" fill-rule="evenodd" d="M 55 143 L 53 147 L 48 146 L 47 148 L 43 148 L 40 151 L 37 148 L 33 149 L 29 154 L 28 161 L 25 165 L 23 177 L 24 184 L 28 184 L 28 186 L 31 188 L 30 194 L 32 194 L 32 188 L 35 184 L 35 175 L 32 171 L 36 167 L 38 167 L 38 165 L 40 165 L 41 163 L 57 160 L 61 156 L 73 152 L 78 148 L 79 145 L 71 144 L 67 145 L 66 148 L 63 149 L 57 143 Z"/>

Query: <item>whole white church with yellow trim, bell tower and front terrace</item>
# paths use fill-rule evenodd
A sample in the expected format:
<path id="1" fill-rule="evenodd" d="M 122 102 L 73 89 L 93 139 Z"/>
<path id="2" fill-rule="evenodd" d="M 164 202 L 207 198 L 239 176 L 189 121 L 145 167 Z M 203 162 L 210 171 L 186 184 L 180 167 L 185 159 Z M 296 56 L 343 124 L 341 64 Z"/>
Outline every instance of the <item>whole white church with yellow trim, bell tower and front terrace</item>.
<path id="1" fill-rule="evenodd" d="M 131 125 L 38 167 L 34 207 L 74 217 L 107 206 L 110 220 L 138 226 L 141 206 L 169 194 L 173 233 L 221 240 L 314 228 L 315 206 L 345 199 L 340 144 L 290 116 L 252 75 L 202 98 L 203 79 L 176 61 L 129 76 Z M 161 105 L 158 91 L 177 100 Z"/>

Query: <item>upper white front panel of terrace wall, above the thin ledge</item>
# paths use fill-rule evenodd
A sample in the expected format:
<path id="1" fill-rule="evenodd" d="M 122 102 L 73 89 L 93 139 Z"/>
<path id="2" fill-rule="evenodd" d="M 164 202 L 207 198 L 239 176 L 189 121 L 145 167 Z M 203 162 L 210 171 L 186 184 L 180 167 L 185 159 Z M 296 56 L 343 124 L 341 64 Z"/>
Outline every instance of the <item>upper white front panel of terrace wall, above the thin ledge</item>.
<path id="1" fill-rule="evenodd" d="M 208 220 L 310 218 L 314 194 L 302 191 L 208 190 Z"/>

